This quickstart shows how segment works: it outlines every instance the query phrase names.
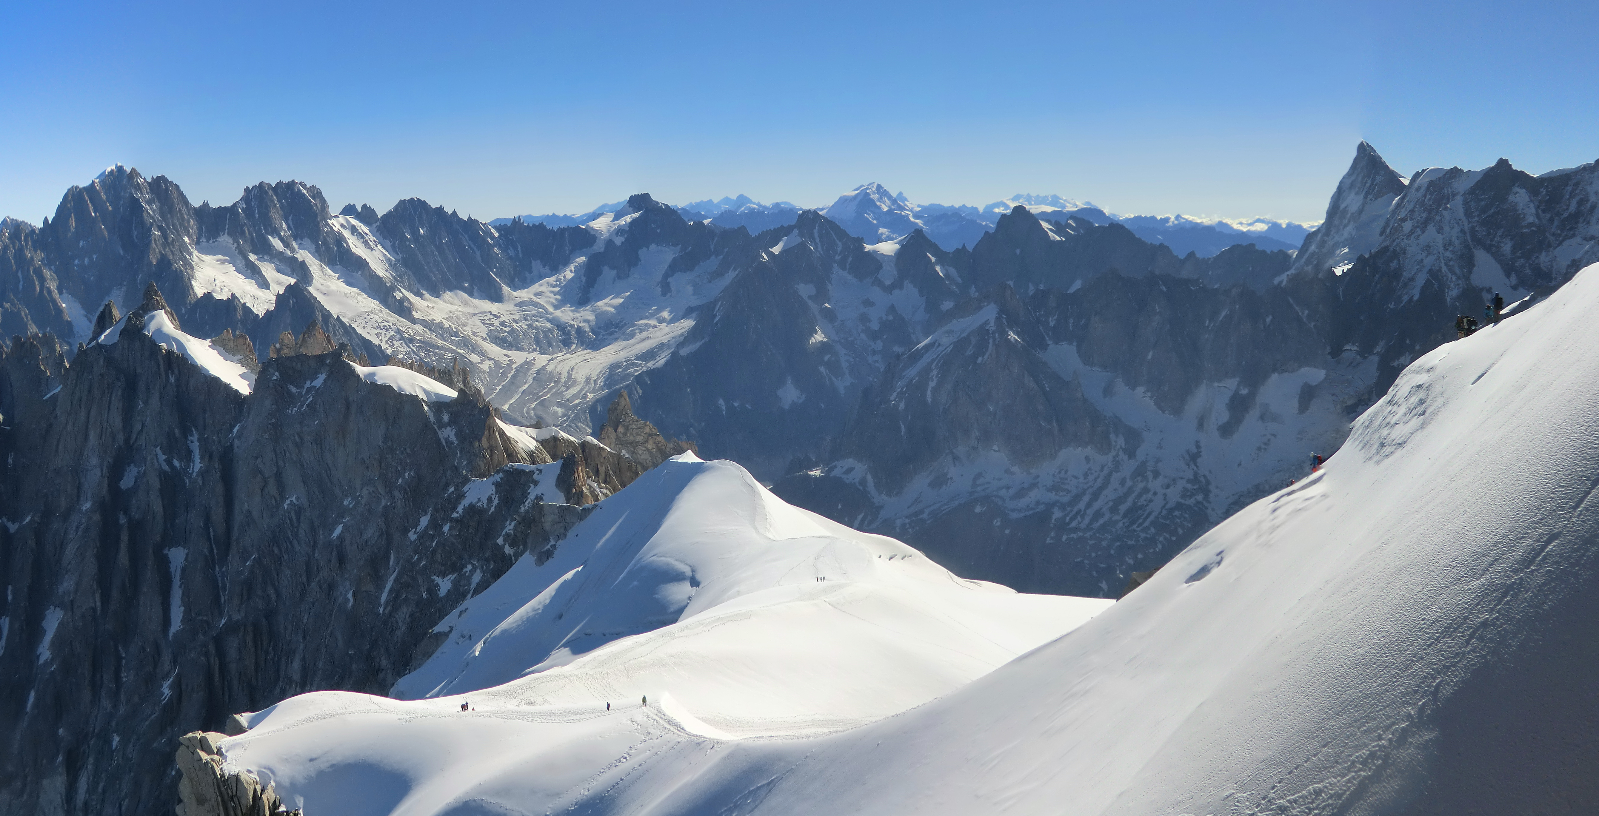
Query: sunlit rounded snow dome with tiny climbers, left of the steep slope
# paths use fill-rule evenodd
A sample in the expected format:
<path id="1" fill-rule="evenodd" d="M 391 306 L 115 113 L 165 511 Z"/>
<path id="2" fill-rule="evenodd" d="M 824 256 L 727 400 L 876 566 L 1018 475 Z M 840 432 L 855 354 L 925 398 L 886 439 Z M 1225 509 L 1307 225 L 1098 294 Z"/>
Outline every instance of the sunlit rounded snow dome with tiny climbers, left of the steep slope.
<path id="1" fill-rule="evenodd" d="M 673 746 L 902 712 L 1108 604 L 958 578 L 684 454 L 601 503 L 545 564 L 526 556 L 462 604 L 438 628 L 445 645 L 395 687 L 454 696 L 305 695 L 227 751 L 313 814 L 401 798 L 401 813 L 443 813 L 484 784 L 510 786 L 492 798 L 515 813 L 544 813 Z M 373 787 L 395 798 L 349 798 Z"/>

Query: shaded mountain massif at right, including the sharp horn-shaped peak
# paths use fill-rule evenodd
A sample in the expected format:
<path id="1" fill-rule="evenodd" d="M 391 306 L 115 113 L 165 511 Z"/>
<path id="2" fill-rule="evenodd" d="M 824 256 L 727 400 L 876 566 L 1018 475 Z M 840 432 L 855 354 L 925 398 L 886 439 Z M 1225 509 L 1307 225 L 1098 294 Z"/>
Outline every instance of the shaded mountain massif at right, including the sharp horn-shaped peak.
<path id="1" fill-rule="evenodd" d="M 1007 214 L 963 270 L 980 294 L 774 489 L 964 575 L 1115 592 L 1337 449 L 1455 315 L 1599 262 L 1596 184 L 1508 163 L 1404 184 L 1362 144 L 1297 259 L 1186 270 L 1121 225 Z"/>

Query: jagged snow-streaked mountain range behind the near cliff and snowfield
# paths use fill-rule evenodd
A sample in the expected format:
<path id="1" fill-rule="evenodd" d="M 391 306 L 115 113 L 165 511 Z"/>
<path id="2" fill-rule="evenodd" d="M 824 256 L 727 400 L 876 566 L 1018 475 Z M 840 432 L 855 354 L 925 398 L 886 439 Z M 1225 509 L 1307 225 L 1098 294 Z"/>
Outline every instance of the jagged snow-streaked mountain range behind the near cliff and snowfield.
<path id="1" fill-rule="evenodd" d="M 48 224 L 0 232 L 0 329 L 51 331 L 70 348 L 99 303 L 154 279 L 197 337 L 243 332 L 264 356 L 285 331 L 317 319 L 373 361 L 449 369 L 459 359 L 512 422 L 574 438 L 593 433 L 627 391 L 662 433 L 740 461 L 790 501 L 889 532 L 977 578 L 1113 594 L 1127 572 L 1162 562 L 1337 446 L 1351 412 L 1452 337 L 1455 315 L 1481 311 L 1492 286 L 1546 291 L 1589 257 L 1583 248 L 1599 228 L 1591 166 L 1540 179 L 1508 164 L 1449 172 L 1458 177 L 1406 187 L 1433 190 L 1425 198 L 1398 196 L 1398 176 L 1362 147 L 1327 224 L 1295 259 L 1247 246 L 1178 257 L 1121 224 L 1094 224 L 1086 208 L 1043 219 L 1012 208 L 951 252 L 924 230 L 867 246 L 814 211 L 752 235 L 686 220 L 644 195 L 563 228 L 491 227 L 417 200 L 336 216 L 299 182 L 195 208 L 166 179 L 112 169 L 70 190 Z M 881 185 L 844 204 L 916 219 L 927 209 Z M 1340 216 L 1367 208 L 1396 208 L 1375 244 L 1327 238 L 1369 230 Z M 1342 275 L 1319 267 L 1311 259 L 1329 241 L 1329 252 L 1353 246 L 1367 262 Z M 1406 279 L 1447 287 L 1412 297 Z M 1025 316 L 999 308 L 1001 286 Z M 950 337 L 951 313 L 987 305 L 1043 327 L 1015 335 L 1028 342 L 995 335 L 1019 342 L 1027 362 L 990 393 L 1025 393 L 1039 366 L 1081 380 L 1086 402 L 1062 422 L 1130 430 L 1118 431 L 1118 450 L 1142 468 L 1122 481 L 1113 466 L 1122 460 L 1094 465 L 1099 454 L 1068 457 L 1075 449 L 1054 442 L 1012 461 L 995 450 L 1020 444 L 1003 442 L 1009 412 L 940 425 L 948 420 L 927 402 L 937 390 L 921 391 L 927 404 L 910 399 L 900 385 L 919 359 L 915 377 L 942 383 L 966 377 L 948 367 L 988 361 L 932 355 L 927 343 Z M 1262 391 L 1295 377 L 1294 393 Z M 907 399 L 878 404 L 884 394 Z M 871 423 L 905 433 L 868 439 L 860 428 Z M 910 428 L 951 444 L 937 454 L 950 463 L 929 463 Z M 1191 446 L 1201 452 L 1172 454 Z M 1055 457 L 1081 465 L 1043 469 Z M 915 477 L 881 476 L 911 465 Z M 999 543 L 966 553 L 974 525 Z"/>

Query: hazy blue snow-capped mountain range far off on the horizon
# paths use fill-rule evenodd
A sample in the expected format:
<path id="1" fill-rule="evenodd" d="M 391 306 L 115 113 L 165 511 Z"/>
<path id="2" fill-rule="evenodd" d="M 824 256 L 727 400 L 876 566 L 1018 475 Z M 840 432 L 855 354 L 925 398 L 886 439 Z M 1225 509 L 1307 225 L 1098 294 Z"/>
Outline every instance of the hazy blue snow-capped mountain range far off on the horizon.
<path id="1" fill-rule="evenodd" d="M 547 227 L 576 227 L 622 209 L 627 201 L 601 204 L 576 216 L 515 216 L 528 224 Z M 1107 225 L 1121 224 L 1134 235 L 1153 244 L 1166 244 L 1178 257 L 1188 252 L 1210 257 L 1236 244 L 1255 244 L 1258 249 L 1297 251 L 1316 224 L 1297 224 L 1273 219 L 1201 219 L 1193 216 L 1115 216 L 1102 208 L 1059 195 L 1017 193 L 1011 198 L 983 204 L 915 204 L 905 193 L 891 193 L 881 184 L 863 184 L 838 196 L 827 208 L 817 208 L 823 216 L 844 227 L 849 235 L 870 243 L 894 241 L 923 230 L 932 243 L 943 249 L 977 246 L 987 232 L 993 232 L 999 217 L 1017 206 L 1025 206 L 1035 216 L 1076 216 Z M 718 227 L 745 227 L 752 233 L 793 224 L 806 208 L 788 201 L 763 204 L 747 195 L 720 200 L 689 201 L 678 206 L 688 220 L 710 220 Z M 505 225 L 513 219 L 494 219 L 491 225 Z"/>

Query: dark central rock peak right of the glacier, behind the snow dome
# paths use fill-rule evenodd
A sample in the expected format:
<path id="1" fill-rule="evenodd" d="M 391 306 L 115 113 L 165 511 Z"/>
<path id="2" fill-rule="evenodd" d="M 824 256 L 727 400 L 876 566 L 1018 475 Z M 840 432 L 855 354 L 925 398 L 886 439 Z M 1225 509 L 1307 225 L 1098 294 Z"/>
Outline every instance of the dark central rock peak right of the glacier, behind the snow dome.
<path id="1" fill-rule="evenodd" d="M 641 414 L 656 425 L 715 439 L 708 455 L 772 473 L 836 436 L 883 356 L 908 348 L 919 326 L 895 307 L 873 313 L 871 295 L 889 300 L 876 278 L 883 260 L 814 211 L 745 251 L 748 260 L 723 260 L 737 271 L 676 353 L 635 382 Z M 910 299 L 926 315 L 924 299 Z"/>

